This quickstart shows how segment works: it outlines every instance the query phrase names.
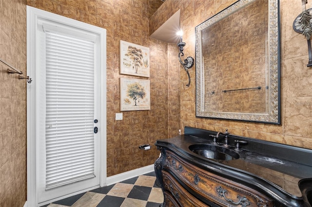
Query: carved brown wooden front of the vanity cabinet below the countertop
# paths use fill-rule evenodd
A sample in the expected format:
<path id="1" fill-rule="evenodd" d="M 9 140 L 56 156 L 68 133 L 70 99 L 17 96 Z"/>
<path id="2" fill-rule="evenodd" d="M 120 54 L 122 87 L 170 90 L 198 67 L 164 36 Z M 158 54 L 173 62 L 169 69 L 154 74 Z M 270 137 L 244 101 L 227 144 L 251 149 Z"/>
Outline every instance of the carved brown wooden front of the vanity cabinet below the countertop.
<path id="1" fill-rule="evenodd" d="M 155 163 L 161 174 L 164 207 L 273 207 L 273 199 L 240 183 L 196 166 L 187 156 L 159 147 Z M 158 177 L 158 176 L 157 176 Z"/>

